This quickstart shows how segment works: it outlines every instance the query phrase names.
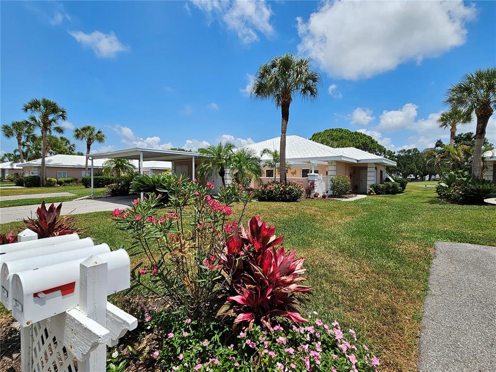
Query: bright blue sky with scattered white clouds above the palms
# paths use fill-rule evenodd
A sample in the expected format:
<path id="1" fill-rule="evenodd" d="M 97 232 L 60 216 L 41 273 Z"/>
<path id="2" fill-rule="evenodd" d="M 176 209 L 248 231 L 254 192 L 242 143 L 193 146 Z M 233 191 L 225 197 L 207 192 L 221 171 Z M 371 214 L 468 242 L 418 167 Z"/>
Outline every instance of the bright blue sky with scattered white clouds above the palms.
<path id="1" fill-rule="evenodd" d="M 257 142 L 279 135 L 280 111 L 250 99 L 250 76 L 292 52 L 323 83 L 317 102 L 292 104 L 288 134 L 344 127 L 422 149 L 449 137 L 436 124 L 446 88 L 495 64 L 495 12 L 494 1 L 2 1 L 1 124 L 47 97 L 68 112 L 66 136 L 105 132 L 95 150 Z M 494 117 L 487 135 L 496 142 Z M 14 147 L 1 138 L 2 153 Z"/>

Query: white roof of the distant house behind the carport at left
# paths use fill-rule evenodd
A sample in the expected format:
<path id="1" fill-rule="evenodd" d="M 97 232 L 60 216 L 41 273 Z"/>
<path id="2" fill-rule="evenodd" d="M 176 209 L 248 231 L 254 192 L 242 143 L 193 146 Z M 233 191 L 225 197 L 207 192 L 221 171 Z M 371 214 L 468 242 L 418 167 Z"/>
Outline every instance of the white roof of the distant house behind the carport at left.
<path id="1" fill-rule="evenodd" d="M 84 155 L 53 155 L 45 158 L 45 166 L 47 167 L 67 167 L 67 168 L 84 168 L 85 167 Z M 103 168 L 103 163 L 109 159 L 95 159 L 93 160 L 94 168 Z M 137 160 L 129 160 L 134 167 L 138 168 Z M 41 159 L 32 160 L 26 162 L 23 166 L 34 166 L 39 167 L 41 165 Z M 91 161 L 88 161 L 88 166 L 91 166 Z M 163 162 L 156 160 L 149 160 L 143 162 L 143 170 L 145 169 L 171 169 L 171 162 Z"/>

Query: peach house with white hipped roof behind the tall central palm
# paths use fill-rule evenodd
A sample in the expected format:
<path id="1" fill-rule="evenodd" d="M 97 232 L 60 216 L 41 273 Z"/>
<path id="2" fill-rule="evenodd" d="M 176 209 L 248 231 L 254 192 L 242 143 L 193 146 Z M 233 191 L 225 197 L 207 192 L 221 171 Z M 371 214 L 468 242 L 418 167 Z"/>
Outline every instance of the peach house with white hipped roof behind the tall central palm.
<path id="1" fill-rule="evenodd" d="M 279 142 L 280 137 L 276 137 L 244 148 L 252 149 L 260 156 L 264 148 L 279 151 Z M 267 155 L 261 157 L 262 162 L 269 159 Z M 344 175 L 350 178 L 353 192 L 367 193 L 372 184 L 385 181 L 386 166 L 396 165 L 392 160 L 355 147 L 333 148 L 297 135 L 286 137 L 286 162 L 291 165 L 287 173 L 289 181 L 306 186 L 310 174 L 312 180 L 316 178 L 323 184 L 318 192 L 327 192 L 330 180 L 336 175 Z M 279 178 L 277 170 L 262 167 L 263 183 L 274 178 Z"/>

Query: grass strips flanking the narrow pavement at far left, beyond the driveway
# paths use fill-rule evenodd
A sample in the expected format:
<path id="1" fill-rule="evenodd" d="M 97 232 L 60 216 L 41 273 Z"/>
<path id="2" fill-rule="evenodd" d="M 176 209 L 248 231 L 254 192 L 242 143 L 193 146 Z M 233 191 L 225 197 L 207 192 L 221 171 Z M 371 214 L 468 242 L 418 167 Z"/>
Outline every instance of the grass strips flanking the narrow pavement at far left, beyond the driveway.
<path id="1" fill-rule="evenodd" d="M 95 196 L 101 195 L 105 192 L 105 187 L 95 188 Z M 25 187 L 25 188 L 1 188 L 0 196 L 7 195 L 27 195 L 27 194 L 43 194 L 50 192 L 70 192 L 73 196 L 54 196 L 47 198 L 29 198 L 18 200 L 0 200 L 0 208 L 17 207 L 20 205 L 33 205 L 41 204 L 43 200 L 46 203 L 57 203 L 61 201 L 74 200 L 79 197 L 88 196 L 91 193 L 90 188 L 85 188 L 82 185 L 77 186 L 60 186 L 60 187 Z"/>

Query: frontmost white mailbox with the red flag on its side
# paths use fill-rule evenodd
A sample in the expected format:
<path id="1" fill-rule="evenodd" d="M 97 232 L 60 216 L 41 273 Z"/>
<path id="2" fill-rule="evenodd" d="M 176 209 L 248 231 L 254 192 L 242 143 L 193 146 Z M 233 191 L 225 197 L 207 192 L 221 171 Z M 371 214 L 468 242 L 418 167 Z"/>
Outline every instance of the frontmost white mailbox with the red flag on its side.
<path id="1" fill-rule="evenodd" d="M 98 255 L 107 262 L 107 295 L 130 287 L 124 249 Z M 79 305 L 80 259 L 12 274 L 12 316 L 25 327 Z"/>

